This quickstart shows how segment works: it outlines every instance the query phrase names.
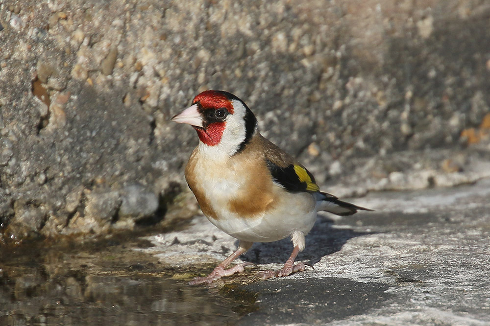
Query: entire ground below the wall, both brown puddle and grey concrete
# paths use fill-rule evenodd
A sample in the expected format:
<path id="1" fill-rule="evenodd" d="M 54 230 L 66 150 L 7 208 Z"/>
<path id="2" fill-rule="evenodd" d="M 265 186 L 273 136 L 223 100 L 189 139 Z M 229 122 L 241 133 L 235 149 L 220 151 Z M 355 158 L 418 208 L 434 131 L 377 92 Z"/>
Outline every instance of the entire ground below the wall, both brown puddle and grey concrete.
<path id="1" fill-rule="evenodd" d="M 180 231 L 2 252 L 0 325 L 490 325 L 490 180 L 370 193 L 319 216 L 283 279 L 188 286 L 235 249 L 203 217 Z M 288 239 L 242 259 L 280 267 Z"/>

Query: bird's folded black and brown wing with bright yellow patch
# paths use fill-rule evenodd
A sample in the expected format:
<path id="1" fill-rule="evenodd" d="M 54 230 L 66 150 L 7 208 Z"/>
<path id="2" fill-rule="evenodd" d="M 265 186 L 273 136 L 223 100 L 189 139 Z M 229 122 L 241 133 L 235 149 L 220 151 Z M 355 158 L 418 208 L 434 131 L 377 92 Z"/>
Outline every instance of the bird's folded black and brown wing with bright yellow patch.
<path id="1" fill-rule="evenodd" d="M 272 180 L 287 191 L 317 192 L 315 178 L 303 165 L 282 149 L 262 138 L 267 168 Z"/>

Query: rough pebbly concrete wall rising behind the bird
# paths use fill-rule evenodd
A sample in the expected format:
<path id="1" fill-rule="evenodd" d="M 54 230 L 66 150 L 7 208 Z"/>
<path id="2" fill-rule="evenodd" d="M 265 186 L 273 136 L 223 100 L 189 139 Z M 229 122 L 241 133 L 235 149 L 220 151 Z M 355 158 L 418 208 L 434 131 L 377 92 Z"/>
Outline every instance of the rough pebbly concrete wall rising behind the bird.
<path id="1" fill-rule="evenodd" d="M 321 184 L 359 158 L 488 138 L 489 13 L 484 0 L 3 0 L 2 233 L 105 233 L 188 208 L 173 199 L 196 136 L 169 118 L 205 89 L 243 98 Z M 453 159 L 408 166 L 420 153 L 443 173 Z"/>

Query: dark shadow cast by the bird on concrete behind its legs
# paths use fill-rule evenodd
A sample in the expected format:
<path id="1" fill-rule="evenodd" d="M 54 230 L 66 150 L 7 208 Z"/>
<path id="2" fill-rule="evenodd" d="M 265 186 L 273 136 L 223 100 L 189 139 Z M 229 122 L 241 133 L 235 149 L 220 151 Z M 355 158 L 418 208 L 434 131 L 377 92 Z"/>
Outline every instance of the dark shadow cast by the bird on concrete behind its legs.
<path id="1" fill-rule="evenodd" d="M 306 235 L 306 247 L 299 253 L 296 260 L 309 260 L 311 265 L 320 261 L 323 256 L 333 254 L 342 249 L 347 240 L 372 232 L 356 232 L 352 229 L 333 228 L 334 221 L 319 216 L 313 229 Z M 237 241 L 238 245 L 238 241 Z M 254 243 L 241 258 L 255 264 L 283 264 L 293 252 L 291 239 L 286 238 L 275 242 Z"/>

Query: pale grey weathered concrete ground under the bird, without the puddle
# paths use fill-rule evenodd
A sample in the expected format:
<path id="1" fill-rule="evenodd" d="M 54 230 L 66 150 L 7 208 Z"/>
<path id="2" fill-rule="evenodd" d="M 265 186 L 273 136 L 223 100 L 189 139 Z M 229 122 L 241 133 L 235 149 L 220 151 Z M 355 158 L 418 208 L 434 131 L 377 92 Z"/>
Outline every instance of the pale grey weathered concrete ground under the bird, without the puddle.
<path id="1" fill-rule="evenodd" d="M 379 192 L 357 199 L 375 209 L 319 217 L 298 256 L 315 270 L 250 282 L 258 310 L 238 325 L 489 325 L 490 180 L 445 189 Z M 142 249 L 173 266 L 220 261 L 236 241 L 204 219 L 151 238 Z M 332 223 L 333 222 L 333 223 Z M 242 258 L 278 268 L 288 239 L 255 244 Z M 266 264 L 266 265 L 262 265 Z M 215 286 L 230 282 L 221 280 Z"/>

